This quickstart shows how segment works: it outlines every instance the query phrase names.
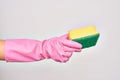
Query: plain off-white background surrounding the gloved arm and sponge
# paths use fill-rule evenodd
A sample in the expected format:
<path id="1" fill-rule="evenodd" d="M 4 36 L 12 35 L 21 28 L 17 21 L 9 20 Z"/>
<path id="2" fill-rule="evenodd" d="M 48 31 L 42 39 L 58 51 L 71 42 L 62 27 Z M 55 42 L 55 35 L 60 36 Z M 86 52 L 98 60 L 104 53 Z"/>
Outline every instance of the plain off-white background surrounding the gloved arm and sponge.
<path id="1" fill-rule="evenodd" d="M 0 80 L 120 80 L 119 0 L 0 0 L 0 39 L 47 39 L 96 25 L 95 47 L 67 63 L 0 61 Z"/>

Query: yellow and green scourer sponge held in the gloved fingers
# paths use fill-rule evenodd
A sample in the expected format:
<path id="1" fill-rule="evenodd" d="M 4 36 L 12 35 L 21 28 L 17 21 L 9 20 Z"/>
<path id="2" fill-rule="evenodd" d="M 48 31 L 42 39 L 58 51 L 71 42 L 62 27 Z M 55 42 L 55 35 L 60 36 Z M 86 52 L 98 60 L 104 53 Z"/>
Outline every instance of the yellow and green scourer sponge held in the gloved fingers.
<path id="1" fill-rule="evenodd" d="M 95 46 L 99 35 L 100 34 L 96 31 L 95 26 L 77 28 L 68 32 L 69 40 L 73 40 L 82 44 L 82 48 Z"/>

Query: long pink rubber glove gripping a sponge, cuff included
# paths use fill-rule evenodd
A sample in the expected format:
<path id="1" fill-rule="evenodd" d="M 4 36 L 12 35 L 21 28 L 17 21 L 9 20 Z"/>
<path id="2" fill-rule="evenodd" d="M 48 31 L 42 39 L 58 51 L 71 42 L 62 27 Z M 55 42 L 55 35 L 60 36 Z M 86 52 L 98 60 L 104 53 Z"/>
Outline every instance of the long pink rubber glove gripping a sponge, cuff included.
<path id="1" fill-rule="evenodd" d="M 30 39 L 9 39 L 5 42 L 5 60 L 7 62 L 32 62 L 53 59 L 66 62 L 72 53 L 81 51 L 81 44 L 68 40 L 68 35 L 54 37 L 44 41 Z"/>

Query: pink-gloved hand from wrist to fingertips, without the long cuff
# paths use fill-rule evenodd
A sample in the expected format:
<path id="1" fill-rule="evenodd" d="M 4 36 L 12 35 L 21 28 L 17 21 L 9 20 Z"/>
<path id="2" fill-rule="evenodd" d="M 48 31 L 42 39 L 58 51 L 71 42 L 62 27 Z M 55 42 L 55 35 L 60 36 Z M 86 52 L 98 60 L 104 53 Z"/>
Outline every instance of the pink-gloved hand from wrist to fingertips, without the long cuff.
<path id="1" fill-rule="evenodd" d="M 68 40 L 68 34 L 43 41 L 44 57 L 58 62 L 69 60 L 73 52 L 80 52 L 82 45 Z"/>

